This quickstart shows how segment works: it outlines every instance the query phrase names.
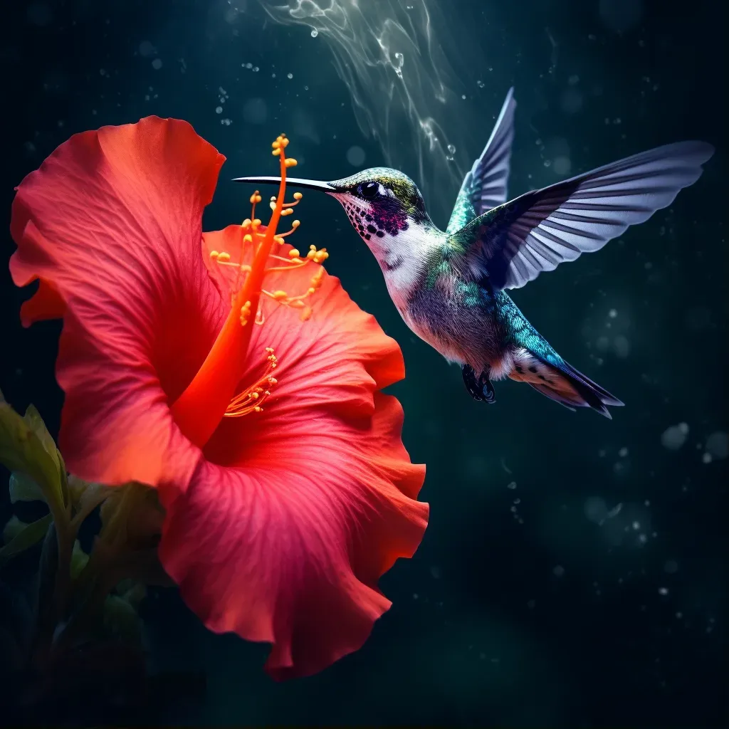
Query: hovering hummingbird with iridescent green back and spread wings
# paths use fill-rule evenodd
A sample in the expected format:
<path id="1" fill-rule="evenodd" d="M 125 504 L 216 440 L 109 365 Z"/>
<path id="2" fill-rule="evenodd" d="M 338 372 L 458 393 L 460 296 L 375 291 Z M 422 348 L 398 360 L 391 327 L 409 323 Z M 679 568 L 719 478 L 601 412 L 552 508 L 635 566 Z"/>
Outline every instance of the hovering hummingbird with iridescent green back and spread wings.
<path id="1" fill-rule="evenodd" d="M 670 205 L 701 176 L 714 148 L 701 141 L 668 144 L 507 202 L 515 108 L 510 89 L 445 231 L 430 219 L 413 180 L 394 169 L 286 182 L 339 200 L 378 260 L 402 319 L 461 365 L 472 397 L 495 402 L 492 381 L 509 377 L 570 410 L 588 407 L 610 418 L 607 406 L 623 402 L 567 364 L 507 290 L 601 249 Z M 278 184 L 280 178 L 236 182 Z"/>

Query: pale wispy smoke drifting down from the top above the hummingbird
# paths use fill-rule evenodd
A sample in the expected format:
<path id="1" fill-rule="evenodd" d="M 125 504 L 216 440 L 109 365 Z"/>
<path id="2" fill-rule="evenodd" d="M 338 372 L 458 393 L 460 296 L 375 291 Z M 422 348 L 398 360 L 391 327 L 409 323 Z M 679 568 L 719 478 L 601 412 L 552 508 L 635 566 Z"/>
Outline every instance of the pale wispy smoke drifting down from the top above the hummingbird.
<path id="1" fill-rule="evenodd" d="M 329 44 L 362 133 L 378 141 L 387 165 L 416 178 L 429 206 L 441 207 L 444 197 L 446 206 L 452 203 L 471 165 L 469 152 L 480 152 L 466 149 L 469 115 L 444 52 L 459 53 L 445 36 L 454 19 L 436 17 L 440 12 L 426 0 L 260 2 L 272 20 L 308 26 Z"/>

